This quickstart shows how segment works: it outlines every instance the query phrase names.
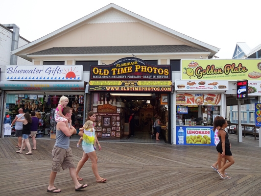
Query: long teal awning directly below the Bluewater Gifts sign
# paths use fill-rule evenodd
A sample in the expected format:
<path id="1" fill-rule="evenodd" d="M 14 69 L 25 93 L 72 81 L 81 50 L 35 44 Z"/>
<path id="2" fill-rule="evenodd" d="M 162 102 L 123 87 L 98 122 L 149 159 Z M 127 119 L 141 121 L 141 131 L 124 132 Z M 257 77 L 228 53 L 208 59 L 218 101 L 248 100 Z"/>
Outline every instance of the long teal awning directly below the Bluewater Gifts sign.
<path id="1" fill-rule="evenodd" d="M 85 81 L 50 82 L 50 81 L 0 81 L 1 90 L 31 90 L 31 91 L 85 91 Z"/>

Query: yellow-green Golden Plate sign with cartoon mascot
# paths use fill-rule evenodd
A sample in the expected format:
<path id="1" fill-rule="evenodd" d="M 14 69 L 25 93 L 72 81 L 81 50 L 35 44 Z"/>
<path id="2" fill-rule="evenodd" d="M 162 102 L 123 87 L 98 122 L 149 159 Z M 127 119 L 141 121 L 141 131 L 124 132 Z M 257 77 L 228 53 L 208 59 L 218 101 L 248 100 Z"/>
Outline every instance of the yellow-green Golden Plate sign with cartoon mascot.
<path id="1" fill-rule="evenodd" d="M 194 59 L 181 61 L 182 79 L 261 80 L 261 59 Z"/>

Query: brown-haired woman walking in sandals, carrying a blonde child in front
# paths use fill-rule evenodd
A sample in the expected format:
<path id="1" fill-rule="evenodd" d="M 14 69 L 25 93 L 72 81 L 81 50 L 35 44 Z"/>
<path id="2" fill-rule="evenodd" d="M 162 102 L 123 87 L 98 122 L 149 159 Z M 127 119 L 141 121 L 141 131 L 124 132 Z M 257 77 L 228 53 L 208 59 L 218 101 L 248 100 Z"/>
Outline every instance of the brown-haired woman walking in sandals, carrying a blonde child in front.
<path id="1" fill-rule="evenodd" d="M 96 120 L 95 113 L 93 111 L 88 112 L 87 118 L 86 118 L 85 121 L 95 122 L 95 120 Z M 83 129 L 80 129 L 80 132 L 78 134 L 79 134 L 80 137 L 83 137 Z M 96 141 L 96 144 L 98 145 L 99 150 L 101 150 L 101 146 L 99 144 L 99 141 L 98 141 L 96 135 L 95 135 L 95 141 Z M 81 160 L 78 162 L 78 165 L 77 165 L 77 168 L 76 168 L 76 176 L 77 176 L 78 180 L 83 180 L 83 178 L 79 177 L 79 172 L 82 169 L 82 167 L 85 164 L 85 162 L 88 161 L 89 155 L 90 155 L 90 153 L 85 153 L 85 151 L 84 151 Z M 91 158 L 91 160 L 92 160 L 92 169 L 93 169 L 93 172 L 94 172 L 95 177 L 96 177 L 96 182 L 104 183 L 107 179 L 100 177 L 99 174 L 98 174 L 98 169 L 97 169 L 98 158 L 96 156 L 96 153 L 95 153 L 94 157 Z"/>

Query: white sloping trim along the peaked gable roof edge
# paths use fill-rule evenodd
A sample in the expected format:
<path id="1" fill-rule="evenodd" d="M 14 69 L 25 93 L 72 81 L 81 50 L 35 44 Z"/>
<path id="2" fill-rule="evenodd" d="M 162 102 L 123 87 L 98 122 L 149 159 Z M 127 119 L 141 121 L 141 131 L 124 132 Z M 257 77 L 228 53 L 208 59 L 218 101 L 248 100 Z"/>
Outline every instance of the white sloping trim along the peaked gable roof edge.
<path id="1" fill-rule="evenodd" d="M 53 31 L 52 33 L 47 34 L 44 37 L 41 37 L 41 38 L 39 38 L 39 39 L 37 39 L 37 40 L 27 44 L 27 45 L 24 45 L 24 46 L 22 46 L 22 47 L 20 47 L 18 49 L 13 50 L 12 54 L 16 54 L 16 53 L 21 52 L 21 51 L 23 51 L 25 49 L 29 49 L 29 48 L 35 47 L 37 44 L 39 44 L 41 42 L 44 42 L 47 39 L 50 39 L 50 38 L 56 36 L 59 33 L 65 32 L 65 31 L 69 30 L 70 28 L 73 28 L 73 26 L 78 25 L 80 23 L 83 23 L 86 20 L 91 19 L 95 15 L 101 14 L 102 12 L 105 12 L 105 11 L 107 11 L 109 9 L 117 9 L 117 10 L 119 10 L 119 11 L 121 11 L 121 12 L 127 14 L 127 15 L 130 15 L 130 16 L 132 16 L 132 17 L 134 17 L 134 18 L 136 18 L 136 19 L 138 19 L 138 20 L 140 20 L 140 21 L 142 21 L 144 23 L 147 23 L 147 24 L 152 25 L 154 27 L 160 28 L 160 29 L 162 29 L 162 30 L 164 30 L 164 31 L 166 31 L 168 33 L 171 33 L 171 34 L 173 34 L 173 35 L 175 35 L 177 37 L 180 37 L 181 39 L 189 41 L 190 43 L 194 44 L 195 46 L 206 48 L 206 49 L 208 49 L 211 52 L 212 56 L 215 53 L 217 53 L 218 50 L 219 50 L 218 48 L 216 48 L 214 46 L 211 46 L 211 45 L 208 45 L 208 44 L 206 44 L 204 42 L 201 42 L 201 41 L 198 41 L 196 39 L 193 39 L 193 38 L 191 38 L 189 36 L 186 36 L 186 35 L 184 35 L 182 33 L 177 32 L 175 30 L 167 28 L 166 26 L 163 26 L 163 25 L 160 25 L 158 23 L 155 23 L 155 22 L 153 22 L 151 20 L 148 20 L 148 19 L 138 15 L 138 14 L 135 14 L 135 13 L 133 13 L 133 12 L 131 12 L 129 10 L 126 10 L 126 9 L 124 9 L 122 7 L 119 7 L 118 5 L 115 5 L 114 3 L 111 3 L 111 4 L 101 8 L 101 9 L 99 9 L 99 10 L 97 10 L 97 11 L 95 11 L 95 12 L 93 12 L 93 13 L 91 13 L 91 14 L 89 14 L 89 15 L 87 15 L 87 16 L 85 16 L 85 17 L 83 17 L 83 18 L 81 18 L 81 19 L 79 19 L 79 20 L 77 20 L 77 21 L 75 21 L 75 22 L 73 22 L 71 24 L 69 24 L 69 25 L 66 25 L 66 26 L 64 26 L 64 27 L 62 27 L 62 28 L 60 28 L 60 29 L 58 29 L 56 31 Z"/>

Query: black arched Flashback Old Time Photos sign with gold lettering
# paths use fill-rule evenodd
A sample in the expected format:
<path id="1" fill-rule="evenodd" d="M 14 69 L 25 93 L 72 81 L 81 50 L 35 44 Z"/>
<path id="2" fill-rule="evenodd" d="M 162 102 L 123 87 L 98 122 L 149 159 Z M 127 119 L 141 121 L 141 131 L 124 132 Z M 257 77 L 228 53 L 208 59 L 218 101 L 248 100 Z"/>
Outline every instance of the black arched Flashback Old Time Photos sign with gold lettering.
<path id="1" fill-rule="evenodd" d="M 171 80 L 170 65 L 150 65 L 142 59 L 125 57 L 105 66 L 91 66 L 91 80 Z"/>

